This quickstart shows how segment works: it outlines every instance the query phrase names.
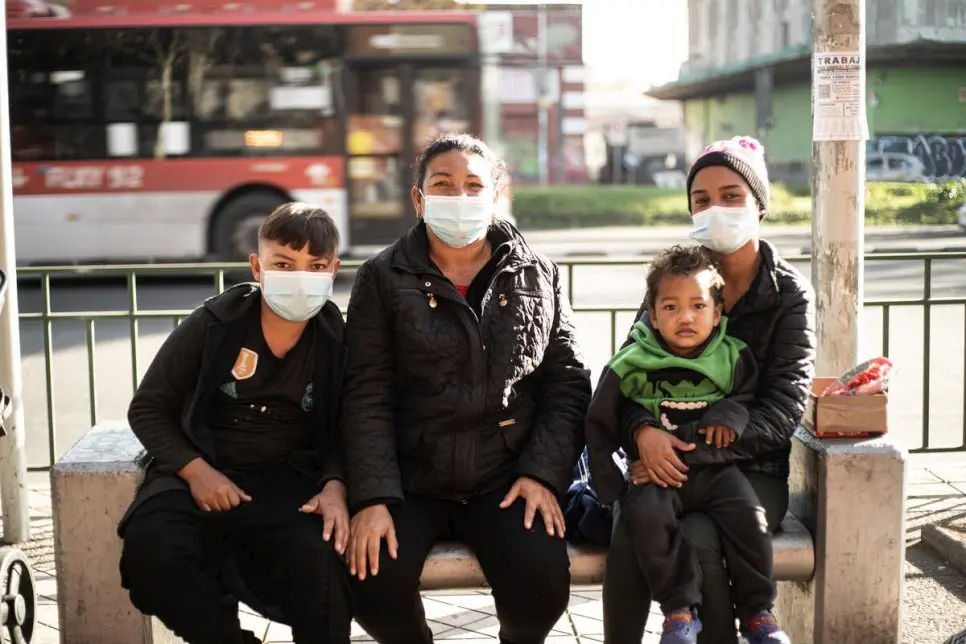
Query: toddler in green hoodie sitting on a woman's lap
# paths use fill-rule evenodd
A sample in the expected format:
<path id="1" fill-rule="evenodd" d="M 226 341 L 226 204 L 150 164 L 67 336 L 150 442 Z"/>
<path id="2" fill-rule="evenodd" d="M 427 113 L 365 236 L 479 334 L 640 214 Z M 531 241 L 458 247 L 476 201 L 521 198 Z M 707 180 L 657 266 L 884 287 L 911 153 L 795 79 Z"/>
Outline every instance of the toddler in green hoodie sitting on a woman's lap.
<path id="1" fill-rule="evenodd" d="M 627 404 L 640 405 L 685 442 L 703 435 L 704 449 L 720 455 L 713 464 L 692 461 L 676 488 L 655 483 L 659 478 L 636 463 L 620 500 L 637 565 L 665 615 L 662 644 L 695 642 L 701 631 L 701 568 L 678 521 L 684 512 L 704 512 L 719 526 L 742 624 L 774 620 L 771 535 L 754 489 L 728 451 L 748 424 L 757 363 L 744 342 L 727 334 L 723 289 L 706 249 L 675 246 L 658 256 L 647 278 L 647 314 L 608 363 L 613 373 L 601 380 L 616 375 Z M 688 462 L 688 454 L 680 456 Z M 633 484 L 637 477 L 644 484 Z M 787 641 L 776 629 L 763 641 Z"/>

